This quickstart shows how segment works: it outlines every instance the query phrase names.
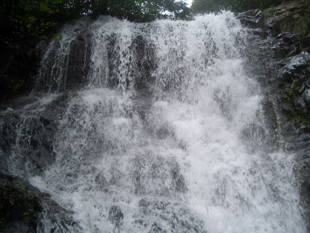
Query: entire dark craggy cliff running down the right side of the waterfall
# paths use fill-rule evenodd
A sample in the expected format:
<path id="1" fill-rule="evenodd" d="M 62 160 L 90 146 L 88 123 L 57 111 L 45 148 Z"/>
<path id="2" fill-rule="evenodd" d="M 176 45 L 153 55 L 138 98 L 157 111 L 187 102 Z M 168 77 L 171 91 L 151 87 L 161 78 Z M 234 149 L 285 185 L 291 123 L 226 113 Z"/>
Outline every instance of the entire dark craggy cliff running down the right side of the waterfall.
<path id="1" fill-rule="evenodd" d="M 262 42 L 267 74 L 261 81 L 278 110 L 281 133 L 296 152 L 294 172 L 310 232 L 310 1 L 283 1 L 238 15 Z M 262 46 L 264 44 L 264 46 Z M 268 53 L 263 52 L 268 47 Z"/>

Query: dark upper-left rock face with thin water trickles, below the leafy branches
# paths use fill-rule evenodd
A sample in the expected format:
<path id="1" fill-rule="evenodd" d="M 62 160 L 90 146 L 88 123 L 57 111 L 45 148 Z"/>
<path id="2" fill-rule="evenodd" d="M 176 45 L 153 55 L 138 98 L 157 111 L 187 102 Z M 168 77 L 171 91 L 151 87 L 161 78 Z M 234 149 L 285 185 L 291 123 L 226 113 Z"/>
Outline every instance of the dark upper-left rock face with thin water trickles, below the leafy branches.
<path id="1" fill-rule="evenodd" d="M 53 48 L 49 48 L 48 44 L 38 44 L 37 50 L 45 53 L 40 56 L 41 63 L 37 67 L 33 89 L 61 91 L 83 87 L 91 66 L 93 35 L 88 30 L 82 30 L 66 44 L 60 41 L 50 43 Z"/>

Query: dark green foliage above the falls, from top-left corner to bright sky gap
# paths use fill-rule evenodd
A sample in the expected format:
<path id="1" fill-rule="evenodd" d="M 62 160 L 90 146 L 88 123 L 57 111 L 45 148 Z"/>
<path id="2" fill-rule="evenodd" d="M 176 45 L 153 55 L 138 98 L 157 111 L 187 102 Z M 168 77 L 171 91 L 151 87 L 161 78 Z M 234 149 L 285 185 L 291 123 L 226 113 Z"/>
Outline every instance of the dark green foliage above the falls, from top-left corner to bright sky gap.
<path id="1" fill-rule="evenodd" d="M 21 38 L 57 39 L 53 29 L 84 15 L 111 15 L 135 22 L 187 19 L 183 0 L 0 0 L 0 40 L 18 47 Z"/>

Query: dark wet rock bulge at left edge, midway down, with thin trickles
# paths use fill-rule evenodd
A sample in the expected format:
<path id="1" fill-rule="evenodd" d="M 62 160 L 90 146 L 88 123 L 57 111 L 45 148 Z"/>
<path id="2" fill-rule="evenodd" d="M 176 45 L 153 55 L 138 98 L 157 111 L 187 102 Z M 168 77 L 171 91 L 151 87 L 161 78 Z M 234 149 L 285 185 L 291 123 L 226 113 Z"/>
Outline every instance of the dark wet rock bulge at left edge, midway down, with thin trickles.
<path id="1" fill-rule="evenodd" d="M 35 175 L 54 163 L 53 143 L 58 129 L 58 120 L 67 98 L 66 94 L 61 94 L 42 108 L 42 111 L 28 114 L 27 117 L 24 117 L 23 112 L 31 111 L 31 109 L 20 108 L 20 105 L 39 104 L 40 101 L 37 100 L 40 97 L 38 99 L 35 97 L 19 98 L 12 101 L 9 104 L 10 107 L 0 113 L 0 168 L 2 172 L 8 174 L 9 166 L 14 165 L 21 171 L 27 170 Z M 18 159 L 14 159 L 15 156 L 18 156 Z"/>

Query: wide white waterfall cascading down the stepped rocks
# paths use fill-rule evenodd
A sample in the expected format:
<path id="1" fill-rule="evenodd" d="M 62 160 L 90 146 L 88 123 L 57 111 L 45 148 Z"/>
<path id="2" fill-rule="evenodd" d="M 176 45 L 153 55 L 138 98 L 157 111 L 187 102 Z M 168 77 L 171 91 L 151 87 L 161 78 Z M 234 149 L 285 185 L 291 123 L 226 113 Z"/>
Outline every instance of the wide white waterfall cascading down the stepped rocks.
<path id="1" fill-rule="evenodd" d="M 89 65 L 79 59 L 85 86 L 68 92 L 55 160 L 40 172 L 20 158 L 33 133 L 27 122 L 64 91 L 20 110 L 24 143 L 12 149 L 11 173 L 74 219 L 44 215 L 38 232 L 306 231 L 293 155 L 277 146 L 281 135 L 246 69 L 254 65 L 244 58 L 247 31 L 231 12 L 65 25 L 42 60 L 37 90 L 66 87 L 70 43 L 83 31 L 91 35 Z"/>

